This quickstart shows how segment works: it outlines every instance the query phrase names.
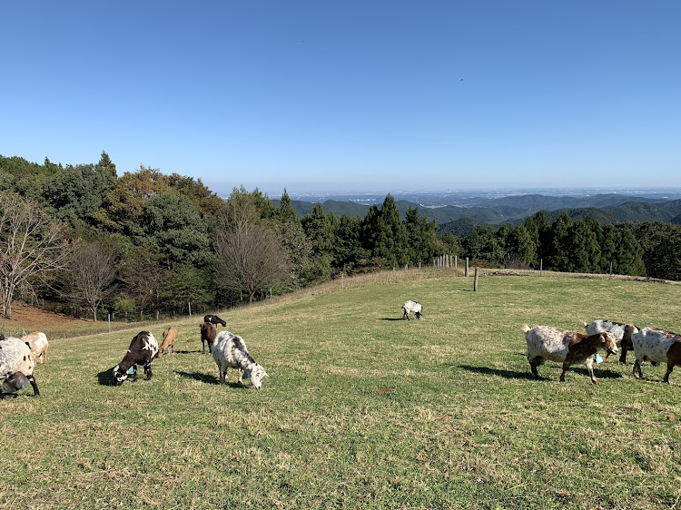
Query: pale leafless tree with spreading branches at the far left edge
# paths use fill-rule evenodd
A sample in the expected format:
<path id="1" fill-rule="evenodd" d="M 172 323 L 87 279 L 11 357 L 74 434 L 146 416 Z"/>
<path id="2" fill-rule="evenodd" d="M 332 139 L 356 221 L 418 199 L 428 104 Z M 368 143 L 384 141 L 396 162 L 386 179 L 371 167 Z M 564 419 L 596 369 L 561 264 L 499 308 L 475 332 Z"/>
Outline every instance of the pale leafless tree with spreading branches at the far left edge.
<path id="1" fill-rule="evenodd" d="M 17 195 L 0 197 L 0 296 L 5 317 L 12 317 L 12 301 L 19 287 L 30 289 L 36 280 L 66 267 L 70 246 L 62 226 Z"/>

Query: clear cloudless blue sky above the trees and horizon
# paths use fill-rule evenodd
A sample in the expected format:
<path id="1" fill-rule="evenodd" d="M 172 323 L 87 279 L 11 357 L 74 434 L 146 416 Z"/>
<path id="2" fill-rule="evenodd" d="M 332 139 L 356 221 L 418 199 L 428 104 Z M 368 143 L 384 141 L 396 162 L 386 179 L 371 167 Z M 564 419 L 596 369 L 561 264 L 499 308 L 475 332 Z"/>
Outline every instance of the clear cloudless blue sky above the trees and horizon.
<path id="1" fill-rule="evenodd" d="M 681 2 L 0 6 L 0 154 L 213 191 L 681 187 Z"/>

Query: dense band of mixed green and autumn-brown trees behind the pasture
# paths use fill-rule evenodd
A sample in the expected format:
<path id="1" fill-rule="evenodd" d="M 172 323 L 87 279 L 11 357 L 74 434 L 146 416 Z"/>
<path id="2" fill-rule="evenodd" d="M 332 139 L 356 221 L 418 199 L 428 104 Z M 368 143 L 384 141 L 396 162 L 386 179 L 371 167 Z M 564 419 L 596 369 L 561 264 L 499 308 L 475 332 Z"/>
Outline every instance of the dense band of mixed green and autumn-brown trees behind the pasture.
<path id="1" fill-rule="evenodd" d="M 681 225 L 602 224 L 538 211 L 515 226 L 441 233 L 418 208 L 400 215 L 388 194 L 364 217 L 302 217 L 286 190 L 227 200 L 201 179 L 141 166 L 118 176 L 99 162 L 43 164 L 0 156 L 0 294 L 74 317 L 158 318 L 222 309 L 338 278 L 431 265 L 607 273 L 681 280 Z"/>

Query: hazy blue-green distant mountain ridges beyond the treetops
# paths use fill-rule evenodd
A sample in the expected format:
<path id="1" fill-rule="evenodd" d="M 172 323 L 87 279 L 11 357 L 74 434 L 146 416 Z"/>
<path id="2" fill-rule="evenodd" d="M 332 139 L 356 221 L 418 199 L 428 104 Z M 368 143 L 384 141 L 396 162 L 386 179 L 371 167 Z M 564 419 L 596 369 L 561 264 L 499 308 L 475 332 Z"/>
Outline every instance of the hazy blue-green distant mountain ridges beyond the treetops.
<path id="1" fill-rule="evenodd" d="M 279 206 L 278 200 L 272 202 Z M 538 211 L 545 211 L 550 222 L 556 221 L 565 211 L 572 219 L 590 216 L 592 220 L 603 224 L 626 221 L 670 221 L 681 224 L 681 200 L 620 194 L 591 197 L 513 195 L 492 199 L 481 198 L 476 201 L 476 205 L 470 206 L 424 207 L 419 203 L 404 200 L 396 203 L 403 218 L 410 207 L 418 208 L 421 216 L 438 222 L 440 233 L 468 234 L 478 224 L 516 225 Z M 314 208 L 314 203 L 310 201 L 291 201 L 291 205 L 301 218 L 310 214 Z M 354 201 L 335 200 L 324 201 L 321 206 L 324 212 L 333 212 L 339 218 L 343 214 L 363 218 L 370 207 Z"/>

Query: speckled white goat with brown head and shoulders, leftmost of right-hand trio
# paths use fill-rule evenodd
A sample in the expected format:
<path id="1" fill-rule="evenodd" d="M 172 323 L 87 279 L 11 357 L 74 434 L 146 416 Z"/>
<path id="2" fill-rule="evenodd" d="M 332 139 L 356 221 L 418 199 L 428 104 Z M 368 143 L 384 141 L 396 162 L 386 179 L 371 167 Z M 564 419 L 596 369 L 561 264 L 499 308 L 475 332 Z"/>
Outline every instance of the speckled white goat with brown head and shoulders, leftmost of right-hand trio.
<path id="1" fill-rule="evenodd" d="M 607 331 L 587 336 L 551 326 L 538 326 L 530 329 L 525 325 L 522 329 L 528 340 L 529 368 L 536 378 L 539 377 L 537 367 L 549 359 L 563 363 L 561 381 L 565 381 L 565 373 L 570 365 L 584 363 L 591 376 L 591 382 L 598 384 L 593 368 L 598 349 L 604 348 L 608 354 L 617 354 L 617 338 Z"/>

